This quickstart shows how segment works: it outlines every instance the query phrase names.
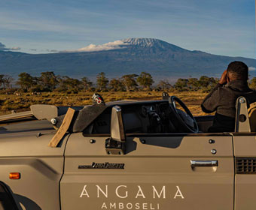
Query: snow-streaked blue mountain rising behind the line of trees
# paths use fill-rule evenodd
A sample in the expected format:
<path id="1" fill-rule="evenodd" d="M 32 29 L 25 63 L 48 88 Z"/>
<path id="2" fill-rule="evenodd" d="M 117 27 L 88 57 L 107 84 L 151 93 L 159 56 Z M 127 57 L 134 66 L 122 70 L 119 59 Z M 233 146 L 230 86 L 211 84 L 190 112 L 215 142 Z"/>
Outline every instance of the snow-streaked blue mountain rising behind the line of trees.
<path id="1" fill-rule="evenodd" d="M 147 71 L 157 79 L 201 75 L 219 77 L 235 60 L 245 62 L 248 67 L 256 67 L 256 60 L 251 58 L 190 51 L 151 38 L 129 38 L 102 46 L 90 45 L 72 52 L 35 55 L 0 51 L 0 74 L 17 77 L 26 71 L 38 76 L 42 71 L 54 71 L 55 74 L 75 78 L 92 78 L 103 71 L 111 78 Z M 250 74 L 255 76 L 256 71 L 250 71 Z"/>

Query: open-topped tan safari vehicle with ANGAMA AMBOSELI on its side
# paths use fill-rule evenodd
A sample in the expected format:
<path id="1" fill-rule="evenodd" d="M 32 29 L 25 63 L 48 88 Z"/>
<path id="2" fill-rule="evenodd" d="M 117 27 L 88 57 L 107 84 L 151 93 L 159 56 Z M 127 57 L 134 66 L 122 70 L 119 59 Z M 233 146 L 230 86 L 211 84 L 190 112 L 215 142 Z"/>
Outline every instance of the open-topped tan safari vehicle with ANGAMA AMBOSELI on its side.
<path id="1" fill-rule="evenodd" d="M 4 115 L 1 207 L 255 209 L 256 133 L 246 106 L 245 98 L 237 100 L 233 133 L 207 133 L 212 116 L 194 117 L 168 95 L 85 107 L 33 105 Z"/>

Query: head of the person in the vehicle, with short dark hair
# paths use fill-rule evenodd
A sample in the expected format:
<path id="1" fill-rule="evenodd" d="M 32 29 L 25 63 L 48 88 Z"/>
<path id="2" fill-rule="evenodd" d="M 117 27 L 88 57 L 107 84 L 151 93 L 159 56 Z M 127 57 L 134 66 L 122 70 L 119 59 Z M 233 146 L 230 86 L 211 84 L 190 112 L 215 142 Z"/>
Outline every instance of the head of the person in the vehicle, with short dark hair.
<path id="1" fill-rule="evenodd" d="M 231 62 L 227 73 L 233 80 L 248 80 L 248 66 L 243 62 Z"/>

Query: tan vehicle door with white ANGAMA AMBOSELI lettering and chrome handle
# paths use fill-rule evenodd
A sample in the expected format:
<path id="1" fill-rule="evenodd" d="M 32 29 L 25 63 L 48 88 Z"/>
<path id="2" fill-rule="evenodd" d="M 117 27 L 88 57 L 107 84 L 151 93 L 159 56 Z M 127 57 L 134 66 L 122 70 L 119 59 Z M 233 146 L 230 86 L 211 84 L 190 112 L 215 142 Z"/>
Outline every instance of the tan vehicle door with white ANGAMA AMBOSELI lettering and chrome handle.
<path id="1" fill-rule="evenodd" d="M 109 137 L 70 136 L 62 209 L 233 209 L 229 134 L 126 133 L 125 154 L 106 150 Z"/>

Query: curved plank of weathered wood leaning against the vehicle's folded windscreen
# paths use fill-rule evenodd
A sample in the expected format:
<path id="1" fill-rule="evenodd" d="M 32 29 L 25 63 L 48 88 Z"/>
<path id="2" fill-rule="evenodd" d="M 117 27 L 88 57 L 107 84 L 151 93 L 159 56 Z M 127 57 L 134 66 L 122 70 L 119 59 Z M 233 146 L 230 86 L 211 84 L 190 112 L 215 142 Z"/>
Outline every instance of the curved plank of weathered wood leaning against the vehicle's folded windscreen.
<path id="1" fill-rule="evenodd" d="M 69 108 L 68 112 L 65 115 L 65 118 L 62 121 L 61 126 L 59 127 L 59 130 L 56 132 L 56 134 L 50 140 L 48 146 L 56 147 L 59 144 L 59 142 L 61 141 L 63 136 L 69 130 L 69 126 L 72 122 L 74 114 L 75 114 L 75 110 L 73 110 L 72 108 Z"/>

